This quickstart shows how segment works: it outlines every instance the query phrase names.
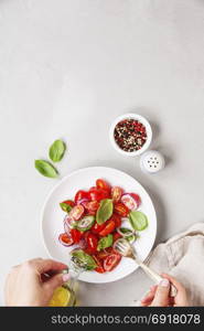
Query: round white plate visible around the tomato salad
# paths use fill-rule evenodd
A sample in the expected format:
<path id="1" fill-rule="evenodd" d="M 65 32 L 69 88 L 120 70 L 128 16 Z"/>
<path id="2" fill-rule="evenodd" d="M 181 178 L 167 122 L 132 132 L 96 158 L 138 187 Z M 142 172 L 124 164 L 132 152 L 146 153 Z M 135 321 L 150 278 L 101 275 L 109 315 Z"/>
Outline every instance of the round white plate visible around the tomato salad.
<path id="1" fill-rule="evenodd" d="M 125 192 L 135 192 L 141 196 L 140 210 L 148 216 L 149 226 L 140 232 L 140 238 L 136 241 L 135 247 L 139 257 L 144 260 L 153 246 L 157 234 L 157 216 L 151 199 L 132 177 L 105 167 L 90 167 L 74 171 L 65 177 L 49 194 L 42 211 L 42 235 L 49 255 L 56 260 L 68 264 L 68 253 L 73 247 L 64 247 L 58 243 L 58 235 L 64 232 L 63 220 L 65 216 L 58 203 L 73 199 L 78 190 L 88 190 L 94 186 L 95 181 L 99 178 L 107 180 L 111 185 L 121 186 Z M 109 282 L 130 275 L 137 268 L 138 266 L 133 260 L 122 258 L 116 269 L 110 273 L 87 271 L 83 273 L 79 279 L 87 282 Z"/>

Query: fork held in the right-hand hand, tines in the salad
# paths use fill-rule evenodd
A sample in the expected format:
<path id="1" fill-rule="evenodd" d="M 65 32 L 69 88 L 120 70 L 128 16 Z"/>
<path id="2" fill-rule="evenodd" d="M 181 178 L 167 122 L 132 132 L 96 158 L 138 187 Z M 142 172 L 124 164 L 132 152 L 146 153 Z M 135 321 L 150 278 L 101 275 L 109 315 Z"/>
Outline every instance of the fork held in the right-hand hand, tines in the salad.
<path id="1" fill-rule="evenodd" d="M 138 254 L 132 245 L 125 239 L 125 238 L 119 238 L 116 241 L 114 244 L 114 248 L 122 256 L 132 258 L 142 269 L 143 271 L 155 282 L 159 284 L 163 278 L 157 274 L 154 270 L 149 268 L 142 260 L 138 257 Z M 175 297 L 176 296 L 176 288 L 171 285 L 170 289 L 170 296 Z"/>

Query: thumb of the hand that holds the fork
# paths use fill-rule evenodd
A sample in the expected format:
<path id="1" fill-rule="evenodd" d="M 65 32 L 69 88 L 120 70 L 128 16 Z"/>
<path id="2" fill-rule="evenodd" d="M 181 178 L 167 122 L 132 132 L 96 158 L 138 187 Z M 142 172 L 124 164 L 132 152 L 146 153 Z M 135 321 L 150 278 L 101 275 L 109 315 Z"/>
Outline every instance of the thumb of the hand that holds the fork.
<path id="1" fill-rule="evenodd" d="M 169 306 L 169 292 L 170 292 L 170 281 L 163 278 L 158 285 L 155 296 L 151 302 L 152 307 L 167 307 Z"/>

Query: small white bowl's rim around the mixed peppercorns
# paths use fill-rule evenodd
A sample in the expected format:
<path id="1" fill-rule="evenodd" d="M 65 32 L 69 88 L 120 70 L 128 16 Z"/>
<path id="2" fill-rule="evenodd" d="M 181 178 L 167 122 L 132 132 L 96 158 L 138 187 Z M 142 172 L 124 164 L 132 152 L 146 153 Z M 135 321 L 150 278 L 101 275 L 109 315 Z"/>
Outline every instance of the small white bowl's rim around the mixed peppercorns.
<path id="1" fill-rule="evenodd" d="M 146 143 L 142 146 L 141 149 L 137 150 L 137 151 L 133 151 L 133 152 L 128 152 L 128 151 L 125 151 L 122 150 L 116 142 L 115 140 L 115 137 L 114 137 L 114 131 L 115 131 L 115 128 L 117 126 L 117 124 L 124 119 L 136 119 L 138 121 L 140 121 L 144 127 L 146 127 L 146 130 L 147 130 L 147 141 Z M 149 124 L 149 121 L 141 115 L 138 115 L 138 114 L 133 114 L 133 113 L 130 113 L 130 114 L 124 114 L 119 117 L 117 117 L 111 126 L 110 126 L 110 130 L 109 130 L 109 139 L 110 139 L 110 142 L 112 145 L 112 147 L 122 156 L 126 156 L 126 157 L 138 157 L 140 156 L 141 153 L 143 153 L 144 151 L 147 151 L 147 149 L 150 147 L 150 143 L 151 143 L 151 140 L 152 140 L 152 129 L 151 129 L 151 126 Z"/>

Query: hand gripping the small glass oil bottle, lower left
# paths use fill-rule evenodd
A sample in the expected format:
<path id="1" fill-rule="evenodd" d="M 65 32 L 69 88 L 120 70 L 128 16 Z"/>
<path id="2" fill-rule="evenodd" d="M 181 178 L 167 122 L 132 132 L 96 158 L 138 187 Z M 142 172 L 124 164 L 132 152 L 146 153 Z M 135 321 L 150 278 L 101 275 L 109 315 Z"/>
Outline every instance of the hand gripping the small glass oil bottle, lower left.
<path id="1" fill-rule="evenodd" d="M 6 305 L 47 306 L 54 290 L 68 280 L 68 274 L 60 274 L 63 269 L 67 266 L 42 258 L 13 267 L 6 281 Z"/>

